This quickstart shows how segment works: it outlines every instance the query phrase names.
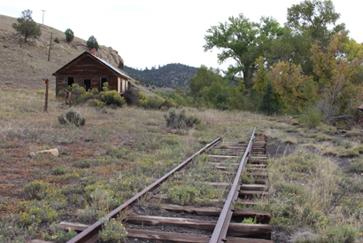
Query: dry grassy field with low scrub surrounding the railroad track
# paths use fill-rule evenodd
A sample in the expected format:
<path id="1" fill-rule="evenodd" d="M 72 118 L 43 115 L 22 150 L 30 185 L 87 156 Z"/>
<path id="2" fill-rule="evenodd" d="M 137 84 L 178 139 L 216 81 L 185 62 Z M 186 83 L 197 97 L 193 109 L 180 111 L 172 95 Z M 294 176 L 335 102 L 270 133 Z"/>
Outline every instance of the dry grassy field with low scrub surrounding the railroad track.
<path id="1" fill-rule="evenodd" d="M 363 229 L 357 227 L 363 225 L 363 207 L 359 204 L 363 192 L 360 157 L 351 161 L 349 171 L 354 175 L 345 174 L 328 159 L 334 156 L 328 151 L 349 149 L 356 144 L 339 142 L 315 131 L 303 133 L 288 124 L 282 126 L 265 116 L 243 112 L 187 108 L 187 114 L 197 114 L 202 122 L 195 129 L 181 130 L 167 129 L 161 111 L 123 107 L 104 114 L 89 106 L 76 106 L 87 120 L 84 127 L 78 128 L 58 124 L 57 115 L 65 113 L 68 107 L 58 103 L 54 96 L 50 96 L 48 113 L 42 112 L 40 91 L 1 88 L 0 102 L 0 235 L 8 237 L 14 233 L 4 230 L 10 226 L 18 227 L 17 231 L 29 227 L 19 226 L 24 222 L 20 216 L 24 216 L 25 209 L 18 202 L 29 200 L 23 192 L 27 184 L 49 184 L 58 190 L 58 198 L 53 195 L 50 199 L 48 195 L 46 201 L 42 200 L 44 203 L 59 208 L 59 201 L 66 199 L 66 206 L 57 212 L 80 222 L 76 212 L 86 208 L 82 218 L 87 221 L 102 216 L 104 208 L 127 200 L 205 143 L 216 137 L 245 142 L 253 127 L 258 126 L 258 131 L 265 131 L 269 138 L 282 142 L 290 137 L 290 141 L 295 139 L 301 144 L 290 156 L 270 161 L 269 207 L 273 209 L 273 223 L 278 231 L 291 235 L 295 242 L 308 238 L 316 239 L 315 242 L 339 242 L 334 237 L 344 234 L 339 229 L 348 227 L 348 233 L 354 230 L 354 239 L 362 239 L 359 234 Z M 328 156 L 306 152 L 304 141 Z M 334 146 L 332 141 L 337 141 Z M 36 150 L 56 147 L 58 158 L 45 154 L 35 159 L 28 156 Z M 54 173 L 52 169 L 57 167 L 66 173 Z M 220 190 L 216 197 L 223 193 Z M 95 200 L 96 194 L 103 200 Z M 12 220 L 8 218 L 11 213 Z M 38 225 L 35 235 L 40 235 L 52 222 Z M 19 242 L 28 239 L 25 232 L 17 234 Z"/>

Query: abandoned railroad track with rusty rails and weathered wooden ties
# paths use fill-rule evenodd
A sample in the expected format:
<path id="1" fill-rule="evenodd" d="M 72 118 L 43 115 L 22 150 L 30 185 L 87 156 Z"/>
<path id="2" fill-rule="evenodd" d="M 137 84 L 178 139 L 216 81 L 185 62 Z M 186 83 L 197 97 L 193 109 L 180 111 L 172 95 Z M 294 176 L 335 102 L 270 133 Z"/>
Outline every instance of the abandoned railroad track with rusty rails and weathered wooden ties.
<path id="1" fill-rule="evenodd" d="M 270 212 L 261 210 L 268 197 L 266 142 L 264 137 L 254 133 L 255 129 L 248 144 L 215 139 L 107 217 L 115 218 L 126 209 L 132 212 L 126 219 L 127 242 L 273 242 L 270 240 Z M 183 169 L 191 168 L 190 162 L 201 153 L 205 153 L 207 162 L 228 178 L 226 182 L 208 184 L 228 189 L 228 195 L 224 199 L 210 200 L 208 207 L 201 206 L 205 202 L 199 206 L 171 204 L 166 195 L 160 193 L 161 184 L 182 173 Z M 158 200 L 160 203 L 157 208 L 148 208 L 147 204 L 140 204 L 140 200 Z M 92 225 L 60 225 L 81 231 L 68 243 L 97 242 L 98 231 L 102 229 L 100 221 Z"/>

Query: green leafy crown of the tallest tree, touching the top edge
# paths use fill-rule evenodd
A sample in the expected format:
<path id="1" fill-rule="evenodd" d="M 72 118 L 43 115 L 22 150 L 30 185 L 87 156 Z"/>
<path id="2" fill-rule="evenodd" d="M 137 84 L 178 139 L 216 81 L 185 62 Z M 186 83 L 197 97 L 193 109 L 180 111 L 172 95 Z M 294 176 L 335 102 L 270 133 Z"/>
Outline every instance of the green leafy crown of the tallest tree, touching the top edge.
<path id="1" fill-rule="evenodd" d="M 341 31 L 345 31 L 345 24 L 336 25 L 340 13 L 334 9 L 331 0 L 305 0 L 300 4 L 293 4 L 288 9 L 286 25 L 303 33 L 308 32 L 313 41 L 319 40 L 327 45 L 330 38 Z M 332 29 L 328 26 L 333 25 Z"/>

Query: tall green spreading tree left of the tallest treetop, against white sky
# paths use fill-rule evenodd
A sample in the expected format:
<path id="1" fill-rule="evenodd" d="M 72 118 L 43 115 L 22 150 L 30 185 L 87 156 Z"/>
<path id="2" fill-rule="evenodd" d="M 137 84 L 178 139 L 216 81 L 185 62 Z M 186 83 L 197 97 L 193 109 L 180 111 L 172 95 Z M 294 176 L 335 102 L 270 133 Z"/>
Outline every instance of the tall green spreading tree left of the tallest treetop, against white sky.
<path id="1" fill-rule="evenodd" d="M 259 23 L 251 22 L 243 14 L 229 17 L 225 23 L 212 26 L 205 35 L 205 51 L 213 48 L 221 50 L 218 54 L 219 63 L 228 59 L 236 61 L 235 66 L 229 66 L 226 77 L 238 82 L 238 76 L 243 74 L 243 81 L 249 88 L 252 77 L 257 69 L 255 59 L 268 51 L 272 40 L 282 34 L 282 27 L 273 18 L 262 17 Z"/>

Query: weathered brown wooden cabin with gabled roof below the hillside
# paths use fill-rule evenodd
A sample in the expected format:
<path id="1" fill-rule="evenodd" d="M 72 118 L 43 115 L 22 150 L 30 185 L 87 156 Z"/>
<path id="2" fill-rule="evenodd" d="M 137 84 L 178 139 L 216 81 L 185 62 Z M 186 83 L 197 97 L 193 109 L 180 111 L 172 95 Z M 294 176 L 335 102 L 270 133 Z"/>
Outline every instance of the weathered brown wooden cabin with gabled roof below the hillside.
<path id="1" fill-rule="evenodd" d="M 131 89 L 130 77 L 98 58 L 96 51 L 91 52 L 83 52 L 53 74 L 56 76 L 56 96 L 59 96 L 60 90 L 66 90 L 73 83 L 86 90 L 102 90 L 104 82 L 108 82 L 108 89 L 117 90 L 120 94 Z"/>

